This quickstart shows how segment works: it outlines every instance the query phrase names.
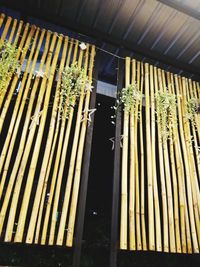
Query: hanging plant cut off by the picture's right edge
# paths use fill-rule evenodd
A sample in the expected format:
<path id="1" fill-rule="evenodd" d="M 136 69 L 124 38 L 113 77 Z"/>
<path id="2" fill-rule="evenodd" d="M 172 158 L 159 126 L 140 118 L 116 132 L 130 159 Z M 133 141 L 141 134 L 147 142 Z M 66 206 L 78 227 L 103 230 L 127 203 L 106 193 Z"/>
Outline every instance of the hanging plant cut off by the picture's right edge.
<path id="1" fill-rule="evenodd" d="M 195 115 L 200 112 L 200 102 L 198 99 L 192 97 L 187 101 L 186 118 L 196 126 Z"/>

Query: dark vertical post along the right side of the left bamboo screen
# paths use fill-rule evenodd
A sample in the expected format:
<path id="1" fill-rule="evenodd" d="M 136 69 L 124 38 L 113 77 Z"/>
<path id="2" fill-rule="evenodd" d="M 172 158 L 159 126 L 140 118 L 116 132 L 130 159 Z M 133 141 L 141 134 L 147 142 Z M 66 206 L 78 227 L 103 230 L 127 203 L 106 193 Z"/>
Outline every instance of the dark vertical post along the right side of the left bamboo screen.
<path id="1" fill-rule="evenodd" d="M 94 109 L 95 104 L 96 104 L 96 90 L 97 90 L 99 61 L 100 61 L 100 52 L 97 51 L 96 56 L 95 56 L 94 73 L 93 73 L 94 88 L 92 90 L 92 95 L 90 99 L 90 109 Z M 90 155 L 91 155 L 91 147 L 92 147 L 93 126 L 94 126 L 94 113 L 91 115 L 91 123 L 90 125 L 88 125 L 86 140 L 85 140 L 83 168 L 82 168 L 82 174 L 81 174 L 81 186 L 80 186 L 79 201 L 78 201 L 77 219 L 76 219 L 77 223 L 76 223 L 76 229 L 75 229 L 73 267 L 80 266 L 81 246 L 82 246 L 82 237 L 83 237 L 83 229 L 84 229 L 84 219 L 85 219 L 85 206 L 86 206 L 89 167 L 90 167 Z"/>

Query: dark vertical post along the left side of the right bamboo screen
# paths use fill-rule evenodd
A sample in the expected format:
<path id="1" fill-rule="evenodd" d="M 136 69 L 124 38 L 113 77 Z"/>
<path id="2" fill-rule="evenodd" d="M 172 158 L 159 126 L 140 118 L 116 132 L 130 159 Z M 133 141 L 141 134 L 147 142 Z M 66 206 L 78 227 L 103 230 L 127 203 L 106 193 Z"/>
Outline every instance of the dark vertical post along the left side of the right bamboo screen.
<path id="1" fill-rule="evenodd" d="M 124 60 L 119 59 L 117 75 L 117 92 L 119 93 L 124 83 Z M 111 245 L 110 267 L 117 267 L 117 250 L 119 239 L 119 196 L 120 196 L 120 139 L 121 139 L 121 107 L 116 114 L 115 151 L 112 195 L 112 221 L 111 221 Z"/>

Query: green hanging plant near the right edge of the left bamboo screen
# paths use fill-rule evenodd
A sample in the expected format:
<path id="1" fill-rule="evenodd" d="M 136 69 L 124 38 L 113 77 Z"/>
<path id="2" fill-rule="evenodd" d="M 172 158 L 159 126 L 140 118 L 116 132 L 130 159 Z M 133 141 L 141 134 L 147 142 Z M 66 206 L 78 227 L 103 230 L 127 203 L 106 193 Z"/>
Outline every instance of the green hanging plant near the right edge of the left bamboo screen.
<path id="1" fill-rule="evenodd" d="M 62 73 L 60 92 L 60 114 L 62 118 L 69 118 L 71 108 L 74 108 L 83 86 L 88 85 L 85 70 L 78 67 L 77 62 L 67 66 Z M 86 87 L 86 86 L 85 86 Z"/>

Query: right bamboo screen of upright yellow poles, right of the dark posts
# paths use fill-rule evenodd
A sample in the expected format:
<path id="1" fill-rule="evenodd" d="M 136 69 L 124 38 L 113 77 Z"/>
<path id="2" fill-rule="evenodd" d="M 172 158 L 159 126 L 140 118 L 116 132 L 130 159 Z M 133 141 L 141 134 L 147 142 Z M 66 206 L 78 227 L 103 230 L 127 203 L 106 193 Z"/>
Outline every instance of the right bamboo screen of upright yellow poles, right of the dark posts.
<path id="1" fill-rule="evenodd" d="M 126 58 L 126 88 L 120 249 L 199 253 L 200 85 Z"/>

